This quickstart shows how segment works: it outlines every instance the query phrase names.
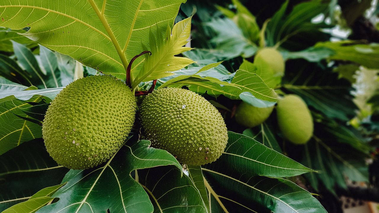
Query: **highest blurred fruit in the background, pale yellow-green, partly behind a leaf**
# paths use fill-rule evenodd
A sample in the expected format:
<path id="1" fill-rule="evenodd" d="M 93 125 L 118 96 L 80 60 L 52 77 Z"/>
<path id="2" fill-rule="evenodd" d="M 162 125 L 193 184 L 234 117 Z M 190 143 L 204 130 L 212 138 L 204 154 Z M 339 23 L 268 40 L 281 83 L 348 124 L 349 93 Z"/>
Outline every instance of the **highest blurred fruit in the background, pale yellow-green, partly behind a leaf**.
<path id="1" fill-rule="evenodd" d="M 254 64 L 268 65 L 273 69 L 274 76 L 283 76 L 285 63 L 282 54 L 272 47 L 265 47 L 258 51 L 254 58 Z"/>

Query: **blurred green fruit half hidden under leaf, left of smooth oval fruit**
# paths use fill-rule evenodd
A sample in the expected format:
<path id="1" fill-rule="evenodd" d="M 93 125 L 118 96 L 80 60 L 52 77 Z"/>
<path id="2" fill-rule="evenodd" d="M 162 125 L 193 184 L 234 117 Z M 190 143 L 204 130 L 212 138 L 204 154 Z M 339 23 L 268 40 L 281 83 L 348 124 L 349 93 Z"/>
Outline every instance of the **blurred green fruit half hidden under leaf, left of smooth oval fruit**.
<path id="1" fill-rule="evenodd" d="M 255 127 L 262 124 L 263 121 L 273 112 L 273 107 L 258 108 L 248 103 L 242 102 L 236 109 L 235 119 L 238 124 L 245 127 Z"/>

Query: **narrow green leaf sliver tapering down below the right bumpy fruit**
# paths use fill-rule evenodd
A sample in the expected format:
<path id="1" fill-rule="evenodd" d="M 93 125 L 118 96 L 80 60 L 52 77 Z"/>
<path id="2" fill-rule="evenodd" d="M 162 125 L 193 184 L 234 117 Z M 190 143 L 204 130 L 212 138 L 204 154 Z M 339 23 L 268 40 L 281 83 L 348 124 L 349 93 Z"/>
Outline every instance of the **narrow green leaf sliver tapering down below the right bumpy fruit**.
<path id="1" fill-rule="evenodd" d="M 203 200 L 204 205 L 207 208 L 207 211 L 209 212 L 210 203 L 208 199 L 208 191 L 207 191 L 207 188 L 205 187 L 204 177 L 203 177 L 203 172 L 201 171 L 201 167 L 187 165 L 187 168 L 188 168 L 189 177 L 193 181 L 193 184 L 197 188 L 197 190 L 199 190 L 201 199 Z"/>

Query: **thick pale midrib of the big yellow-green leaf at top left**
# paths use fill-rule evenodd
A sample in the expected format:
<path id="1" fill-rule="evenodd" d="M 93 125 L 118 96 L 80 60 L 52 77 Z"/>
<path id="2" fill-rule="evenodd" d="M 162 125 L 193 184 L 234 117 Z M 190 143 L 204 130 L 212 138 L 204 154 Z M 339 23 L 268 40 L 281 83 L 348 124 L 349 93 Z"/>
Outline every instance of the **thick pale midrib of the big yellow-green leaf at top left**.
<path id="1" fill-rule="evenodd" d="M 126 72 L 126 68 L 128 67 L 128 60 L 126 59 L 124 52 L 121 50 L 121 47 L 120 47 L 119 43 L 117 42 L 117 39 L 113 34 L 113 31 L 111 30 L 110 26 L 108 25 L 108 21 L 105 19 L 104 14 L 99 11 L 99 8 L 97 8 L 97 6 L 93 0 L 88 0 L 88 2 L 91 4 L 92 8 L 94 9 L 95 13 L 97 14 L 101 23 L 103 24 L 103 27 L 105 28 L 106 32 L 108 33 L 109 38 L 111 39 L 112 44 L 113 44 L 114 48 L 116 49 L 117 54 L 119 55 L 119 57 L 121 59 L 122 66 L 124 66 L 124 69 Z M 142 0 L 141 0 L 141 2 L 142 2 Z M 104 1 L 103 3 L 106 3 L 106 2 Z M 130 79 L 133 79 L 132 76 L 133 76 L 132 73 L 130 73 Z"/>

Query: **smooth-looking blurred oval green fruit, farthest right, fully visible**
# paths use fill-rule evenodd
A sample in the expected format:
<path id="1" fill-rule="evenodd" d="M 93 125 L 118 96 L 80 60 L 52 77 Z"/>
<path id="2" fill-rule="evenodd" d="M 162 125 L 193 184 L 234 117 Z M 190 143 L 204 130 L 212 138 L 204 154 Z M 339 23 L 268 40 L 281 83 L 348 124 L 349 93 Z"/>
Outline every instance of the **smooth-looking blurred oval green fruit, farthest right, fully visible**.
<path id="1" fill-rule="evenodd" d="M 278 125 L 285 138 L 294 144 L 305 144 L 313 135 L 313 119 L 305 102 L 296 95 L 278 100 Z"/>

